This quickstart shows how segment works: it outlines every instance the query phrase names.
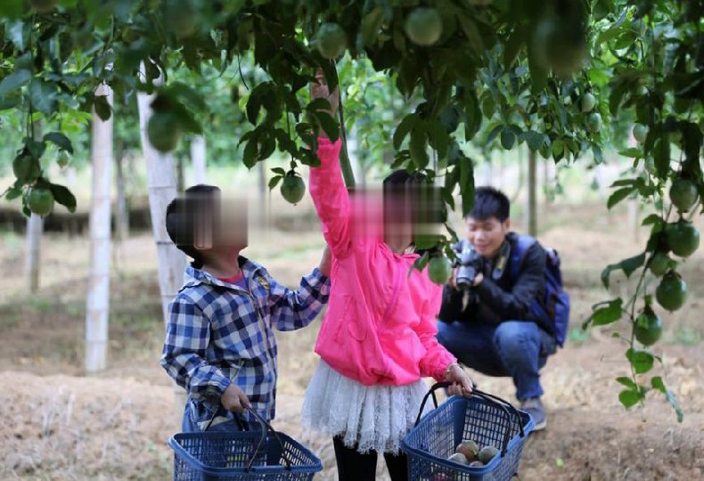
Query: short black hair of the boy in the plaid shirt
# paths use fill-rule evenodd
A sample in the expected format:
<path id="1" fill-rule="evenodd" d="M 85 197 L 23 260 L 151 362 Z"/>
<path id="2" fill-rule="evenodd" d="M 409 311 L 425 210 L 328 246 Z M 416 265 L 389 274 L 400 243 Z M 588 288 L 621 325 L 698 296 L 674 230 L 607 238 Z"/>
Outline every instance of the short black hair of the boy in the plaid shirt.
<path id="1" fill-rule="evenodd" d="M 191 265 L 196 269 L 201 269 L 205 264 L 205 257 L 201 250 L 196 249 L 194 232 L 197 227 L 198 213 L 205 209 L 215 213 L 217 204 L 215 202 L 215 192 L 220 189 L 215 185 L 199 183 L 184 191 L 184 195 L 176 197 L 167 207 L 166 227 L 168 237 L 176 245 L 176 248 L 184 252 L 188 257 L 192 257 Z M 211 223 L 215 228 L 217 222 Z M 213 232 L 213 238 L 216 233 Z"/>

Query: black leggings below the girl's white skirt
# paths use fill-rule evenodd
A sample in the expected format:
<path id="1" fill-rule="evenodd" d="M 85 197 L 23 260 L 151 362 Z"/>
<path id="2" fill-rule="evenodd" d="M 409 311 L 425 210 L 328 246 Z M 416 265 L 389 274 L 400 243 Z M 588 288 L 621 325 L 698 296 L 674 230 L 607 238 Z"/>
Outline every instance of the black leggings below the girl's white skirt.
<path id="1" fill-rule="evenodd" d="M 332 438 L 335 446 L 335 460 L 338 463 L 340 481 L 374 481 L 376 479 L 377 452 L 370 451 L 361 454 L 354 448 L 348 448 L 340 436 Z M 389 469 L 391 481 L 407 481 L 408 465 L 405 454 L 384 453 L 386 467 Z"/>

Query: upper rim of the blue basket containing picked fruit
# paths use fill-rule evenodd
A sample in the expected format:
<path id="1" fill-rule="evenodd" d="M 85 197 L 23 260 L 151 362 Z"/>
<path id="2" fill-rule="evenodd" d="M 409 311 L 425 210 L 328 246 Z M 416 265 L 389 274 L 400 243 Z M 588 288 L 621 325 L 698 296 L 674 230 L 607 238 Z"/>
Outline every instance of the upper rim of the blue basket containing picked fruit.
<path id="1" fill-rule="evenodd" d="M 460 464 L 458 462 L 454 461 L 449 461 L 446 460 L 445 458 L 440 458 L 434 454 L 430 454 L 430 452 L 423 451 L 422 449 L 419 449 L 417 447 L 412 446 L 411 444 L 408 444 L 408 437 L 413 434 L 413 431 L 415 431 L 417 428 L 422 427 L 424 424 L 430 423 L 430 421 L 439 415 L 441 409 L 447 409 L 448 407 L 451 407 L 453 403 L 463 403 L 467 404 L 469 403 L 471 398 L 464 397 L 464 396 L 459 396 L 459 395 L 454 395 L 447 399 L 444 403 L 438 405 L 436 409 L 434 409 L 432 412 L 430 412 L 428 415 L 426 415 L 420 423 L 418 423 L 418 426 L 414 427 L 411 429 L 411 431 L 404 436 L 404 438 L 401 440 L 401 450 L 406 452 L 409 455 L 430 460 L 436 464 L 439 464 L 445 468 L 448 469 L 454 469 L 454 470 L 460 470 L 464 473 L 470 474 L 470 475 L 484 475 L 487 474 L 488 472 L 493 471 L 496 468 L 496 465 L 498 465 L 499 462 L 513 451 L 515 449 L 515 445 L 520 443 L 520 441 L 525 440 L 528 437 L 528 434 L 535 428 L 536 423 L 533 420 L 533 418 L 528 414 L 528 412 L 525 411 L 520 411 L 520 409 L 516 409 L 521 415 L 525 415 L 526 418 L 528 418 L 528 422 L 523 425 L 523 436 L 520 436 L 520 433 L 517 433 L 516 436 L 513 436 L 511 439 L 509 439 L 509 443 L 506 446 L 506 454 L 502 455 L 501 451 L 499 451 L 499 455 L 495 456 L 493 460 L 489 461 L 489 463 L 485 466 L 482 466 L 481 468 L 470 468 L 468 465 Z M 481 399 L 481 398 L 476 398 L 475 402 L 479 403 L 487 403 L 486 400 Z M 523 416 L 521 416 L 522 418 Z"/>

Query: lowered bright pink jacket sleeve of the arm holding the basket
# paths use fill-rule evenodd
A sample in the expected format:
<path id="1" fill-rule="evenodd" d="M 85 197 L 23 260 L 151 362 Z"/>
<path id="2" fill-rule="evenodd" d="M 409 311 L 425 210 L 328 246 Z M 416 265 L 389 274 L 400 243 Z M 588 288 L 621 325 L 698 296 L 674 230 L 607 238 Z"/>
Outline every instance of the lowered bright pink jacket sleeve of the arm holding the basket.
<path id="1" fill-rule="evenodd" d="M 422 273 L 422 275 L 426 275 Z M 433 378 L 438 382 L 445 379 L 445 371 L 451 363 L 456 363 L 457 358 L 438 343 L 435 335 L 438 333 L 438 311 L 442 302 L 442 291 L 439 286 L 430 286 L 429 295 L 422 304 L 421 322 L 418 324 L 416 334 L 425 347 L 425 355 L 421 359 L 421 376 Z"/>

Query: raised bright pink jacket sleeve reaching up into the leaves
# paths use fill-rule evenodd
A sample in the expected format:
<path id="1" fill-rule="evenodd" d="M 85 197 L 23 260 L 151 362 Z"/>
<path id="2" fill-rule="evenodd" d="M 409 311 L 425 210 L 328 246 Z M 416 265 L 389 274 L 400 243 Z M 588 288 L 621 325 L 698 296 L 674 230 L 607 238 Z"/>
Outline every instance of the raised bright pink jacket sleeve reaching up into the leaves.
<path id="1" fill-rule="evenodd" d="M 340 140 L 318 138 L 320 167 L 310 168 L 310 197 L 323 224 L 323 236 L 336 257 L 346 257 L 350 246 L 349 196 L 340 170 Z"/>

